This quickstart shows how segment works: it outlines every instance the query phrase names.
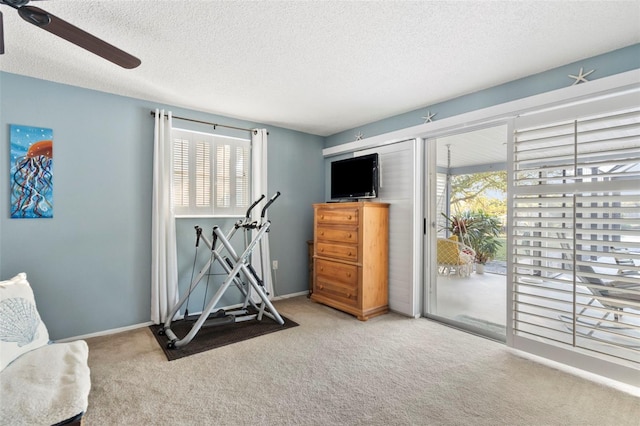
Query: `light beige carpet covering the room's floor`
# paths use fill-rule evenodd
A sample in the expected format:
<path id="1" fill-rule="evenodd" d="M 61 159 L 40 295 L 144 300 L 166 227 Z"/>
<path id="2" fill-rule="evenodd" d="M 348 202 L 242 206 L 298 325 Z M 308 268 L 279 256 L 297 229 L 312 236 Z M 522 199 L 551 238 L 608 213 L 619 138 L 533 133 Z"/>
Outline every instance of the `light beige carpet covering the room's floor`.
<path id="1" fill-rule="evenodd" d="M 640 398 L 426 319 L 276 307 L 300 326 L 171 362 L 147 327 L 88 339 L 85 426 L 640 424 Z"/>

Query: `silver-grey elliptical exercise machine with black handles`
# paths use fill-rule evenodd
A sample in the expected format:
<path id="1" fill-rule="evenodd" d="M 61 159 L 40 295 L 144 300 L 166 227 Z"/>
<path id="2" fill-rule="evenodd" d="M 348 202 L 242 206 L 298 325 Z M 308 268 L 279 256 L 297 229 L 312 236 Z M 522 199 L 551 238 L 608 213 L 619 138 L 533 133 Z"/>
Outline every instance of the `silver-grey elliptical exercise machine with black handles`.
<path id="1" fill-rule="evenodd" d="M 161 325 L 159 334 L 166 335 L 168 338 L 167 348 L 175 349 L 187 345 L 195 335 L 200 331 L 202 327 L 230 324 L 241 321 L 258 320 L 261 321 L 263 316 L 267 316 L 276 321 L 280 325 L 284 325 L 284 320 L 278 314 L 278 311 L 269 300 L 268 293 L 264 288 L 264 282 L 260 278 L 256 270 L 251 266 L 251 253 L 259 244 L 260 240 L 269 232 L 271 222 L 265 220 L 265 215 L 269 206 L 280 196 L 280 192 L 271 197 L 262 209 L 260 218 L 256 221 L 251 220 L 251 211 L 265 198 L 262 195 L 257 201 L 255 201 L 247 210 L 247 214 L 243 219 L 238 220 L 233 228 L 227 235 L 220 230 L 218 226 L 213 227 L 212 241 L 209 241 L 205 235 L 202 234 L 202 228 L 196 226 L 196 250 L 200 243 L 200 240 L 204 241 L 206 246 L 211 250 L 211 257 L 205 266 L 200 270 L 198 275 L 192 280 L 189 285 L 189 289 L 182 295 L 178 303 L 171 309 L 171 312 L 167 315 L 165 323 Z M 242 229 L 245 232 L 245 236 L 252 231 L 257 231 L 253 239 L 246 243 L 246 248 L 242 254 L 238 255 L 231 245 L 231 239 L 236 231 Z M 220 244 L 217 244 L 217 241 Z M 245 240 L 246 241 L 246 240 Z M 217 246 L 217 247 L 216 247 Z M 222 253 L 226 251 L 227 256 L 223 256 Z M 260 256 L 260 261 L 263 262 L 263 257 Z M 171 330 L 171 323 L 174 317 L 177 315 L 180 308 L 188 303 L 191 293 L 201 283 L 202 278 L 208 274 L 210 267 L 213 263 L 218 262 L 227 276 L 218 288 L 218 291 L 211 298 L 206 307 L 202 310 L 202 313 L 198 316 L 195 323 L 191 327 L 190 331 L 181 339 Z M 244 277 L 245 280 L 242 280 Z M 244 297 L 244 302 L 241 308 L 233 311 L 224 311 L 218 309 L 212 313 L 216 308 L 216 305 L 220 302 L 220 299 L 224 293 L 229 289 L 231 284 L 240 290 L 240 293 Z M 260 298 L 260 305 L 257 305 L 252 300 L 252 291 Z M 206 293 L 205 293 L 206 295 Z M 206 296 L 205 296 L 206 297 Z M 253 308 L 254 312 L 249 312 L 249 306 Z M 188 307 L 187 311 L 188 313 Z M 186 319 L 185 315 L 185 319 Z"/>

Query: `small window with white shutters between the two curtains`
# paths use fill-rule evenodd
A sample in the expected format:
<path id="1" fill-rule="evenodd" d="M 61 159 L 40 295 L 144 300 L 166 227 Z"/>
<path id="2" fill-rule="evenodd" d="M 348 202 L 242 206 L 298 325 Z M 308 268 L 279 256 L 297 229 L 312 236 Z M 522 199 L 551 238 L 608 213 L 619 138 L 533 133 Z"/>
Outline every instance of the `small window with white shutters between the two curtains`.
<path id="1" fill-rule="evenodd" d="M 249 207 L 250 141 L 172 130 L 173 206 L 178 216 L 243 216 Z"/>

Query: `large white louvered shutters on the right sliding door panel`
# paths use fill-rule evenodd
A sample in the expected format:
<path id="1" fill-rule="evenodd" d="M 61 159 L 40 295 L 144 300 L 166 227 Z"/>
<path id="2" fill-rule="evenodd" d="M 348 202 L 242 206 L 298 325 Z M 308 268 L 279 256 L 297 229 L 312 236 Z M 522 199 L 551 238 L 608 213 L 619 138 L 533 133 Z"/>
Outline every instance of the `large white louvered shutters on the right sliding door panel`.
<path id="1" fill-rule="evenodd" d="M 525 121 L 513 146 L 513 333 L 640 363 L 640 108 Z"/>

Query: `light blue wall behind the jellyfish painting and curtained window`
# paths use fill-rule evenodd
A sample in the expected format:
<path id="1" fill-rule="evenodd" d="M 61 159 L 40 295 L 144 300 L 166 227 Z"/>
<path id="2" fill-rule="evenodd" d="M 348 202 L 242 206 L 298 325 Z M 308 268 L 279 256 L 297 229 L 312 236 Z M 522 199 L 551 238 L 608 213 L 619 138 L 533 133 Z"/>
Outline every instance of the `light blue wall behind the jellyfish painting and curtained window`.
<path id="1" fill-rule="evenodd" d="M 27 272 L 52 339 L 149 321 L 150 111 L 158 107 L 167 108 L 0 72 L 0 277 Z M 323 138 L 169 109 L 174 115 L 220 124 L 267 127 L 269 193 L 283 194 L 269 210 L 272 258 L 279 260 L 277 290 L 306 290 L 311 204 L 324 200 Z M 53 129 L 52 219 L 9 218 L 10 124 Z M 188 285 L 193 264 L 192 222 L 178 223 L 182 287 Z M 215 222 L 228 228 L 229 221 Z M 213 223 L 199 225 L 210 229 Z"/>

